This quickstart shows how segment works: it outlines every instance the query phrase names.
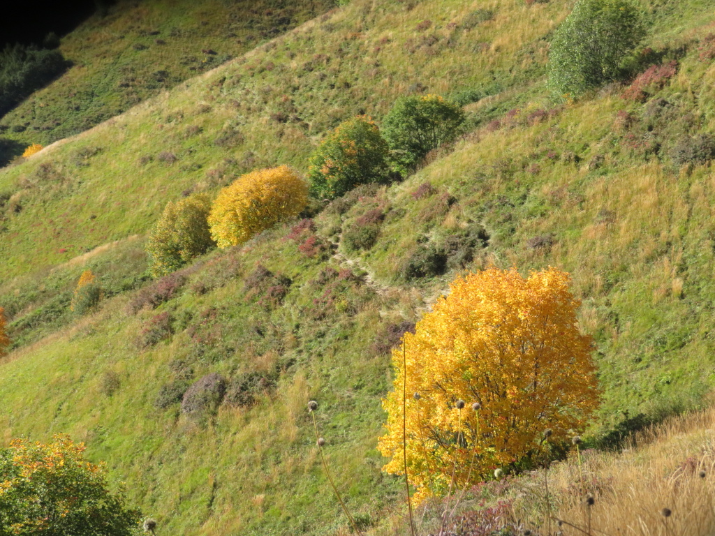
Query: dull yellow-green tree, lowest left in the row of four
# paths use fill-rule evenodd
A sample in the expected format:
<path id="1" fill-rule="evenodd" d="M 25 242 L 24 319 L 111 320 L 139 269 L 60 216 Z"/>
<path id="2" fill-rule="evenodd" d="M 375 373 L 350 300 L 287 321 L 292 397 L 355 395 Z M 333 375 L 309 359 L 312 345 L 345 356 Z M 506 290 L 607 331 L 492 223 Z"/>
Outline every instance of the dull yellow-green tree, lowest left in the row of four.
<path id="1" fill-rule="evenodd" d="M 215 246 L 207 223 L 210 209 L 204 194 L 167 204 L 147 242 L 154 277 L 174 272 Z"/>

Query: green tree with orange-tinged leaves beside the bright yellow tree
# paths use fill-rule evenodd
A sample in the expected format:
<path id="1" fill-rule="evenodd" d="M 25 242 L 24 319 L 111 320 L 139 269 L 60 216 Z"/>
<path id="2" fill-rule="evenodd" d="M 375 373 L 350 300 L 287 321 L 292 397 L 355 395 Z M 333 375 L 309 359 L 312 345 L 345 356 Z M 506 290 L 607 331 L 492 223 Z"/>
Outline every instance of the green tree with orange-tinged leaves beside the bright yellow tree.
<path id="1" fill-rule="evenodd" d="M 310 194 L 335 199 L 359 184 L 388 179 L 388 144 L 368 116 L 348 119 L 310 157 Z"/>

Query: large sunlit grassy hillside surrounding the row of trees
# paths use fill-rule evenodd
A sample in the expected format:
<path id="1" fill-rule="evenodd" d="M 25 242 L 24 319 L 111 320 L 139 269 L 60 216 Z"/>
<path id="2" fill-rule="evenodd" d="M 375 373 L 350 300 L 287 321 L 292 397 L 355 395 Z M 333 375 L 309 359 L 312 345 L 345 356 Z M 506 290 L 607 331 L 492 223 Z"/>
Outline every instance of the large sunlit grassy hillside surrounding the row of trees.
<path id="1" fill-rule="evenodd" d="M 315 398 L 340 489 L 371 525 L 402 507 L 375 450 L 390 344 L 456 274 L 488 264 L 573 275 L 598 348 L 598 440 L 698 405 L 715 382 L 715 194 L 692 155 L 715 129 L 715 26 L 701 1 L 643 6 L 642 69 L 677 68 L 638 82 L 638 100 L 621 84 L 548 95 L 566 2 L 356 0 L 1 170 L 0 306 L 16 345 L 0 367 L 5 437 L 87 441 L 167 533 L 330 534 L 345 523 L 312 447 Z M 305 171 L 326 131 L 357 113 L 379 122 L 409 93 L 460 99 L 470 132 L 312 226 L 148 281 L 144 235 L 167 201 L 255 167 Z M 374 209 L 377 243 L 347 247 Z M 488 240 L 470 239 L 478 226 Z M 313 234 L 315 252 L 302 247 Z M 445 244 L 445 273 L 405 278 Z M 76 319 L 88 267 L 107 299 Z M 183 415 L 172 389 L 211 372 L 235 405 Z"/>

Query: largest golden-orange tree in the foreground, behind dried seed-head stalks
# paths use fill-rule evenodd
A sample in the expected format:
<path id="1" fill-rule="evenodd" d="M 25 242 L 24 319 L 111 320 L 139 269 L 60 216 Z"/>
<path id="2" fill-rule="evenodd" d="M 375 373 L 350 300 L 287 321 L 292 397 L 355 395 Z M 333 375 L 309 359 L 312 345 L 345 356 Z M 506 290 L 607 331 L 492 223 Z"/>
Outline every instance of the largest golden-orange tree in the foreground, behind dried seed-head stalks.
<path id="1" fill-rule="evenodd" d="M 583 430 L 600 395 L 570 282 L 555 268 L 527 278 L 490 268 L 451 284 L 415 334 L 405 333 L 404 356 L 393 350 L 395 389 L 383 400 L 388 422 L 379 441 L 391 460 L 383 470 L 405 472 L 403 404 L 418 499 L 446 492 L 453 472 L 463 488 L 497 467 L 538 460 L 548 444 Z"/>

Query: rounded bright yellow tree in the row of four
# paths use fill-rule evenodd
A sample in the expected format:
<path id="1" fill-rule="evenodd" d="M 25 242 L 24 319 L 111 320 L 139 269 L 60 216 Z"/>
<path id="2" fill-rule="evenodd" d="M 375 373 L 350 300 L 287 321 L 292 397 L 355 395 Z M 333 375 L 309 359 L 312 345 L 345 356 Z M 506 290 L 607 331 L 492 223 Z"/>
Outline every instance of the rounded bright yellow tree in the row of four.
<path id="1" fill-rule="evenodd" d="M 211 236 L 220 248 L 242 244 L 306 204 L 307 184 L 290 167 L 258 169 L 219 192 L 209 214 Z"/>

